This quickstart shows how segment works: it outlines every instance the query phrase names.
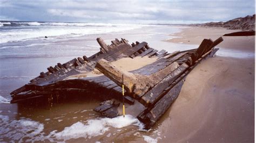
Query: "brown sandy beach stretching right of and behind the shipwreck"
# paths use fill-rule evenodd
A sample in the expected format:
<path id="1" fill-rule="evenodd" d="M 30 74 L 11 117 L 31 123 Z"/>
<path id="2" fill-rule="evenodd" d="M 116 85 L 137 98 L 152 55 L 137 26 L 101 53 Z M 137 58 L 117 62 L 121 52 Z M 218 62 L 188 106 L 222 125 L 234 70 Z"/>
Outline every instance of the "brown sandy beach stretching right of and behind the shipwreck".
<path id="1" fill-rule="evenodd" d="M 190 27 L 169 41 L 200 44 L 234 31 Z M 223 38 L 217 47 L 255 52 L 254 36 Z M 159 121 L 157 130 L 166 137 L 159 142 L 254 142 L 254 78 L 254 58 L 217 55 L 202 61 Z"/>

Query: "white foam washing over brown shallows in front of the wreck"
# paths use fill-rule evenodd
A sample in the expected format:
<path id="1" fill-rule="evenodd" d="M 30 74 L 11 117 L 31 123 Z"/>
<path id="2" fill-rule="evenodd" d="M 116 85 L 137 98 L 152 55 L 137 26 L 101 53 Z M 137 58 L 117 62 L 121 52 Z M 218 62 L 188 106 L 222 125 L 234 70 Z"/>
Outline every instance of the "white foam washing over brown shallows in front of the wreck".
<path id="1" fill-rule="evenodd" d="M 0 142 L 3 139 L 12 141 L 66 141 L 69 139 L 85 138 L 90 139 L 103 135 L 110 128 L 123 128 L 126 126 L 137 126 L 142 130 L 144 125 L 140 121 L 131 116 L 125 115 L 116 118 L 97 118 L 87 120 L 85 123 L 78 121 L 69 127 L 65 127 L 63 131 L 52 131 L 50 134 L 43 132 L 44 124 L 29 118 L 21 118 L 19 120 L 10 120 L 8 116 L 0 115 Z M 110 136 L 111 134 L 107 134 Z"/>

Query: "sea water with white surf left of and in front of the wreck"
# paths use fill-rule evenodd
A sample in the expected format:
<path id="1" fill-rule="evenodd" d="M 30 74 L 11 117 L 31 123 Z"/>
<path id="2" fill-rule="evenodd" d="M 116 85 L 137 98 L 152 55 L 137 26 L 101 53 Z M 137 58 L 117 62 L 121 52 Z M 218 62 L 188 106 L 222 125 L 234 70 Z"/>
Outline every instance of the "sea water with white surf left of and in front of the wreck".
<path id="1" fill-rule="evenodd" d="M 182 51 L 198 45 L 172 44 L 164 40 L 184 27 L 171 25 L 93 23 L 0 23 L 0 142 L 2 141 L 134 141 L 160 140 L 141 131 L 136 117 L 113 119 L 92 111 L 99 101 L 69 102 L 46 109 L 22 109 L 10 104 L 9 93 L 46 71 L 49 66 L 99 51 L 96 38 L 107 44 L 114 38 L 146 41 L 159 51 Z M 45 38 L 48 37 L 48 38 Z M 125 135 L 124 137 L 122 135 Z"/>

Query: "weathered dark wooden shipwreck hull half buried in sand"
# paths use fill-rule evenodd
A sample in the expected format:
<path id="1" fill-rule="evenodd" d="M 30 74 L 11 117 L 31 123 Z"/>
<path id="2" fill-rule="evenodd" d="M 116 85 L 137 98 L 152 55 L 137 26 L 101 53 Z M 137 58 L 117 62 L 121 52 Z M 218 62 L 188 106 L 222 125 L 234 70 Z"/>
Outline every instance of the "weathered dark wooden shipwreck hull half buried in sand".
<path id="1" fill-rule="evenodd" d="M 73 59 L 64 64 L 51 66 L 46 73 L 40 75 L 23 87 L 12 91 L 11 103 L 36 104 L 44 103 L 51 107 L 69 96 L 98 95 L 104 99 L 116 98 L 122 100 L 122 85 L 125 88 L 125 102 L 133 104 L 134 100 L 145 106 L 137 118 L 152 127 L 169 109 L 178 97 L 188 73 L 204 58 L 213 56 L 218 48 L 214 48 L 223 39 L 215 41 L 204 39 L 196 49 L 167 53 L 158 52 L 147 45 L 147 42 L 135 42 L 131 45 L 126 39 L 115 39 L 111 45 L 97 38 L 100 52 L 87 58 Z M 112 61 L 136 56 L 157 57 L 157 60 L 142 68 L 125 71 L 114 65 Z M 64 80 L 71 75 L 88 73 L 98 69 L 104 75 Z M 124 81 L 122 80 L 124 77 Z M 111 94 L 110 94 L 111 93 Z M 102 105 L 99 112 L 112 112 L 119 104 Z M 104 114 L 103 114 L 104 115 Z M 116 115 L 116 112 L 114 112 Z"/>

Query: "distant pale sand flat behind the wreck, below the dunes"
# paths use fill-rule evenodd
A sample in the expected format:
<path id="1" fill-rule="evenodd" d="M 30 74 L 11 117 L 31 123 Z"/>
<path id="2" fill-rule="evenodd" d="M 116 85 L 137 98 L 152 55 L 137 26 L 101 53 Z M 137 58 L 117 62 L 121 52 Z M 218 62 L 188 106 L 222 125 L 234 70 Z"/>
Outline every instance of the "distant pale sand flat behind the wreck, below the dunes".
<path id="1" fill-rule="evenodd" d="M 224 42 L 221 42 L 217 47 L 238 49 L 240 51 L 255 52 L 254 37 L 255 36 L 238 36 L 238 37 L 226 37 L 223 36 L 226 33 L 238 32 L 241 30 L 228 30 L 222 27 L 186 27 L 181 32 L 170 34 L 176 38 L 165 40 L 167 42 L 182 43 L 182 44 L 194 44 L 199 45 L 203 39 L 215 40 L 219 37 L 223 37 Z M 236 42 L 235 45 L 230 46 L 231 42 Z M 245 47 L 245 48 L 242 48 Z M 242 48 L 242 49 L 241 49 Z"/>

